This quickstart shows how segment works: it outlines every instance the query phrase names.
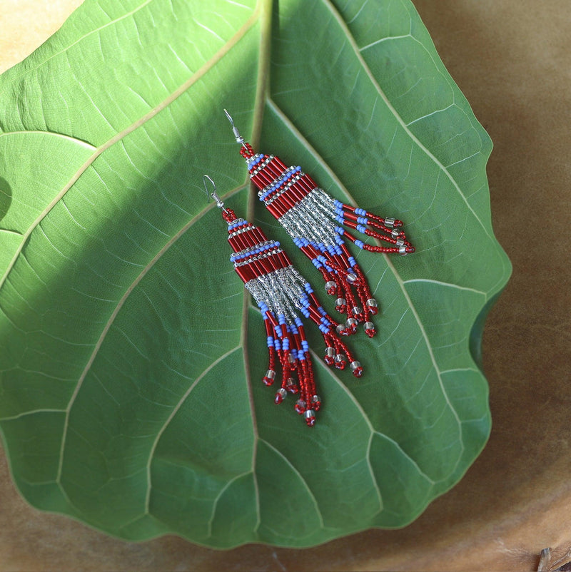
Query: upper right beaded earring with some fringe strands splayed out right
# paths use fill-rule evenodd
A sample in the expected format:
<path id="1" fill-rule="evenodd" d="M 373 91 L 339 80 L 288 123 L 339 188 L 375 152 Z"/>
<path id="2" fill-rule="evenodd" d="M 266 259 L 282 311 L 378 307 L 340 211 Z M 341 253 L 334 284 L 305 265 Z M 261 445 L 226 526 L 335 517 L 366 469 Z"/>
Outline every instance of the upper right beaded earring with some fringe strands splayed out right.
<path id="1" fill-rule="evenodd" d="M 236 141 L 242 145 L 240 154 L 246 159 L 250 178 L 258 188 L 258 197 L 323 275 L 325 290 L 336 296 L 336 310 L 347 316 L 345 324 L 339 325 L 337 331 L 353 334 L 357 325 L 364 322 L 366 334 L 373 337 L 375 326 L 371 316 L 378 312 L 378 304 L 343 238 L 362 250 L 406 255 L 414 252 L 415 247 L 401 230 L 403 222 L 345 205 L 319 188 L 300 167 L 286 167 L 276 155 L 254 153 L 250 143 L 244 141 L 234 126 L 228 111 L 224 112 Z M 388 245 L 365 244 L 347 229 L 357 230 Z"/>

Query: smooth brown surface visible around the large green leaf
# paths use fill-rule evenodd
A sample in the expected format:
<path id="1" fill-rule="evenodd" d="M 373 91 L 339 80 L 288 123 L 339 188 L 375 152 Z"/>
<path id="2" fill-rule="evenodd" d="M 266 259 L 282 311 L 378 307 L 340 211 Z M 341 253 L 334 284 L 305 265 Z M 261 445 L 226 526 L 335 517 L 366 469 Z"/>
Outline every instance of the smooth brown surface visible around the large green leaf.
<path id="1" fill-rule="evenodd" d="M 569 0 L 413 0 L 492 136 L 497 238 L 514 275 L 487 322 L 492 436 L 463 481 L 400 531 L 308 550 L 133 544 L 29 507 L 0 462 L 0 572 L 169 570 L 532 571 L 571 546 Z M 0 0 L 0 71 L 79 0 Z M 532 238 L 532 228 L 537 238 Z"/>

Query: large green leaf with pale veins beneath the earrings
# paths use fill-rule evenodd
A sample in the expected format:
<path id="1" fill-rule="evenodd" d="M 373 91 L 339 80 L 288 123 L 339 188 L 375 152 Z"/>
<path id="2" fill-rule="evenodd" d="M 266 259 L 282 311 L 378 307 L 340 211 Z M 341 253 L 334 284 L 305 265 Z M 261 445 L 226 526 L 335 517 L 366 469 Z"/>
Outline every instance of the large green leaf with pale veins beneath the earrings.
<path id="1" fill-rule="evenodd" d="M 480 339 L 510 274 L 490 139 L 410 1 L 271 4 L 86 0 L 0 78 L 0 424 L 39 509 L 134 540 L 310 546 L 407 524 L 485 444 Z M 254 204 L 225 107 L 417 247 L 358 253 L 383 309 L 349 341 L 360 380 L 311 332 L 314 429 L 261 383 L 261 316 L 203 173 L 320 276 Z"/>

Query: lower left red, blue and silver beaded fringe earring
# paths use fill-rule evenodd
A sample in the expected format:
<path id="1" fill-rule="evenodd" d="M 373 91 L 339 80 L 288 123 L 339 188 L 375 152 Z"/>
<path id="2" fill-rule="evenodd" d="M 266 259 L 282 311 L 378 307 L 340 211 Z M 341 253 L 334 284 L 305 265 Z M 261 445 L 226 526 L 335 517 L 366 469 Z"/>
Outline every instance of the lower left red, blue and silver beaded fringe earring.
<path id="1" fill-rule="evenodd" d="M 321 400 L 316 391 L 309 344 L 298 312 L 318 325 L 325 341 L 326 364 L 344 369 L 348 359 L 355 377 L 363 374 L 363 367 L 339 339 L 336 333 L 338 323 L 323 310 L 311 286 L 295 270 L 280 243 L 268 240 L 260 228 L 237 218 L 233 210 L 224 207 L 216 193 L 211 195 L 228 223 L 228 243 L 233 250 L 230 260 L 234 270 L 251 292 L 263 316 L 268 341 L 268 370 L 263 382 L 273 384 L 276 362 L 279 362 L 281 384 L 274 401 L 280 404 L 288 393 L 298 394 L 294 409 L 312 427 Z M 294 373 L 297 374 L 297 382 L 293 379 Z"/>

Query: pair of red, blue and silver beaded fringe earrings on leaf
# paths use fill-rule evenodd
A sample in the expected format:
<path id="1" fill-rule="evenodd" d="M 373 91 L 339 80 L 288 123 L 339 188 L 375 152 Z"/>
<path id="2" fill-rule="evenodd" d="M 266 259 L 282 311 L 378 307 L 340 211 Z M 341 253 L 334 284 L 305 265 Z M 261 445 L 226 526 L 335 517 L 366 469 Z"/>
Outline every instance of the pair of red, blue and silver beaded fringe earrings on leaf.
<path id="1" fill-rule="evenodd" d="M 335 310 L 345 315 L 336 322 L 323 309 L 309 282 L 295 270 L 288 255 L 276 240 L 268 240 L 262 230 L 236 217 L 211 193 L 228 223 L 228 242 L 234 270 L 261 310 L 268 340 L 269 364 L 263 382 L 272 385 L 276 379 L 276 359 L 281 365 L 281 387 L 274 401 L 279 404 L 288 393 L 298 394 L 295 411 L 303 415 L 309 427 L 315 424 L 315 412 L 321 400 L 305 338 L 302 314 L 318 326 L 325 342 L 324 361 L 338 369 L 345 369 L 347 360 L 355 377 L 363 374 L 363 367 L 353 357 L 342 337 L 354 334 L 360 323 L 369 337 L 375 334 L 371 317 L 378 305 L 371 295 L 363 271 L 345 246 L 343 238 L 360 249 L 383 254 L 406 255 L 415 248 L 401 230 L 403 223 L 394 218 L 382 218 L 335 200 L 310 178 L 300 167 L 286 167 L 276 155 L 254 153 L 250 143 L 231 123 L 240 154 L 246 160 L 248 172 L 258 197 L 287 231 L 293 242 L 311 260 L 325 280 L 325 291 L 334 295 Z M 206 179 L 212 179 L 204 175 Z M 208 192 L 208 191 L 207 191 Z M 385 246 L 370 245 L 356 238 L 347 229 L 385 242 Z M 297 382 L 293 379 L 297 374 Z"/>

